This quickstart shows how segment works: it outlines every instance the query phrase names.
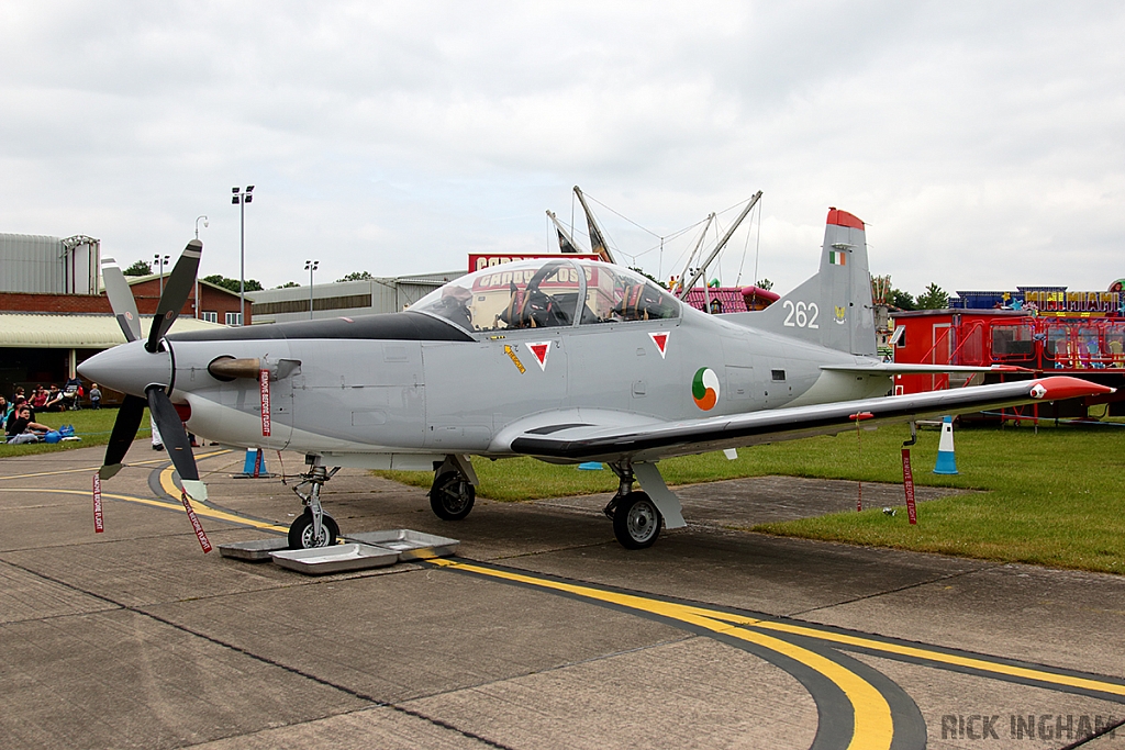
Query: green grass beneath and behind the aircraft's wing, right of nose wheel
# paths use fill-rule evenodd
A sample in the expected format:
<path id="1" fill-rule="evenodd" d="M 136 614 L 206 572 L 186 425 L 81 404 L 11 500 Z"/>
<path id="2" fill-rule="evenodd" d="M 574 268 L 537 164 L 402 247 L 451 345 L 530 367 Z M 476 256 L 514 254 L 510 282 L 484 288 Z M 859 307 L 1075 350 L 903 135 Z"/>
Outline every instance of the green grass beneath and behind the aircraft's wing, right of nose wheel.
<path id="1" fill-rule="evenodd" d="M 902 482 L 906 426 L 763 445 L 660 462 L 669 485 L 784 475 Z M 915 481 L 987 490 L 904 512 L 874 508 L 755 526 L 767 534 L 1125 573 L 1125 426 L 974 427 L 955 433 L 960 475 L 932 472 L 939 433 L 921 431 L 912 449 Z M 501 500 L 611 493 L 608 471 L 579 471 L 532 459 L 476 461 L 479 494 Z M 429 487 L 430 475 L 381 472 Z M 904 501 L 903 501 L 904 503 Z"/>

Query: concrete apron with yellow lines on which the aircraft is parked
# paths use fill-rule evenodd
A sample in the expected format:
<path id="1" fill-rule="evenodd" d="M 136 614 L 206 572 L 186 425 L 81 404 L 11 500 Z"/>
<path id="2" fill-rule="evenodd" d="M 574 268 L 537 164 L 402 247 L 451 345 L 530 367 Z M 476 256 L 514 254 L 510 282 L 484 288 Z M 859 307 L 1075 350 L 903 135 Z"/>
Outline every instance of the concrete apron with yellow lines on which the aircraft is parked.
<path id="1" fill-rule="evenodd" d="M 307 578 L 204 555 L 144 446 L 104 485 L 104 534 L 100 449 L 0 461 L 6 748 L 1055 748 L 1125 719 L 1120 578 L 738 531 L 854 507 L 854 484 L 684 488 L 688 527 L 629 552 L 605 496 L 446 523 L 344 470 L 344 534 L 454 536 L 458 558 Z M 300 509 L 207 453 L 213 544 L 264 533 L 222 513 Z"/>

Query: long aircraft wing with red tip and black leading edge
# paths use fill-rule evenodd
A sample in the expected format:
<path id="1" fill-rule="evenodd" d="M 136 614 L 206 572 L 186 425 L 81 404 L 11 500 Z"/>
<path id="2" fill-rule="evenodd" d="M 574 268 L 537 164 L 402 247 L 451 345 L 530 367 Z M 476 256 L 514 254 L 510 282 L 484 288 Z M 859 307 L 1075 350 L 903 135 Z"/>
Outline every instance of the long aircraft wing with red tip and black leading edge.
<path id="1" fill-rule="evenodd" d="M 883 396 L 795 408 L 708 417 L 649 425 L 576 424 L 560 421 L 524 432 L 512 441 L 516 453 L 548 461 L 656 461 L 812 435 L 855 430 L 867 424 L 906 423 L 946 414 L 997 409 L 1035 401 L 1094 396 L 1114 389 L 1078 378 L 1036 380 Z"/>

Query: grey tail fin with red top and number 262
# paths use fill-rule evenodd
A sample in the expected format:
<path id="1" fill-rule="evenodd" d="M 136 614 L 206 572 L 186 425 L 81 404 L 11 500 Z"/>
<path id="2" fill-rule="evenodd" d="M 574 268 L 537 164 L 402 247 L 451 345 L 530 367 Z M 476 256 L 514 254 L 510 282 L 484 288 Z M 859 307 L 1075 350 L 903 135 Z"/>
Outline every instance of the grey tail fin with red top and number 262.
<path id="1" fill-rule="evenodd" d="M 749 316 L 753 316 L 750 318 Z M 850 354 L 875 354 L 875 318 L 863 222 L 828 209 L 820 271 L 748 325 Z"/>

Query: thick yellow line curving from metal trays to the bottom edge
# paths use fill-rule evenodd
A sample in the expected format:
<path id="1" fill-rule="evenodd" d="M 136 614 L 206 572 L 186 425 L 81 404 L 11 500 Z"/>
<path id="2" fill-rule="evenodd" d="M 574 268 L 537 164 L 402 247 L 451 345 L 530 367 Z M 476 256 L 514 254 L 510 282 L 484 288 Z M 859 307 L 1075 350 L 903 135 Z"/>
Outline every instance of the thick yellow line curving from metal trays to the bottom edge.
<path id="1" fill-rule="evenodd" d="M 609 604 L 614 604 L 630 609 L 649 612 L 670 620 L 678 620 L 680 622 L 703 627 L 714 633 L 721 633 L 723 635 L 755 643 L 772 651 L 776 651 L 777 653 L 782 653 L 806 665 L 810 669 L 820 672 L 835 683 L 836 686 L 839 687 L 840 690 L 843 690 L 847 696 L 848 701 L 852 703 L 855 716 L 852 741 L 848 743 L 848 748 L 878 749 L 891 747 L 891 739 L 894 734 L 894 724 L 891 720 L 891 707 L 888 705 L 883 695 L 875 689 L 873 685 L 846 667 L 843 667 L 842 665 L 838 665 L 831 659 L 822 657 L 819 653 L 814 653 L 808 649 L 764 633 L 744 630 L 738 626 L 741 623 L 736 624 L 720 621 L 714 617 L 714 615 L 719 613 L 710 612 L 701 607 L 692 607 L 670 602 L 662 602 L 659 599 L 650 599 L 633 594 L 605 591 L 596 588 L 588 588 L 586 586 L 578 586 L 576 584 L 565 584 L 561 581 L 524 576 L 506 570 L 482 568 L 479 566 L 457 562 L 453 560 L 438 559 L 431 560 L 431 562 L 444 568 L 467 570 L 483 576 L 490 576 L 493 578 L 502 578 L 505 580 L 525 584 L 536 588 L 565 591 L 567 594 L 582 596 L 597 602 L 606 602 Z"/>

